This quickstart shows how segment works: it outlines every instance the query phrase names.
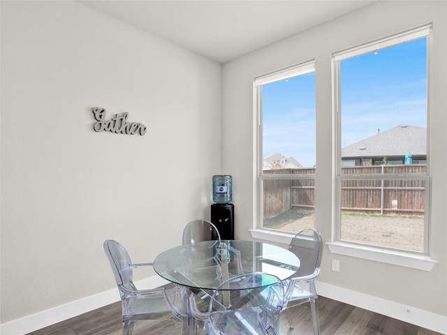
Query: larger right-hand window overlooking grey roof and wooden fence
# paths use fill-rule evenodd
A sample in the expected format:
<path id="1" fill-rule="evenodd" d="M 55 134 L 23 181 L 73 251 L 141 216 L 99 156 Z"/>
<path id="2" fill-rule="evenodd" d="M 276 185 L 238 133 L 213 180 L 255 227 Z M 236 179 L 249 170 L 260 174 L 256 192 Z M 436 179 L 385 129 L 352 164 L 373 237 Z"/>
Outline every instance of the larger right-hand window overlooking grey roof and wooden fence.
<path id="1" fill-rule="evenodd" d="M 430 31 L 333 54 L 339 241 L 428 254 Z"/>

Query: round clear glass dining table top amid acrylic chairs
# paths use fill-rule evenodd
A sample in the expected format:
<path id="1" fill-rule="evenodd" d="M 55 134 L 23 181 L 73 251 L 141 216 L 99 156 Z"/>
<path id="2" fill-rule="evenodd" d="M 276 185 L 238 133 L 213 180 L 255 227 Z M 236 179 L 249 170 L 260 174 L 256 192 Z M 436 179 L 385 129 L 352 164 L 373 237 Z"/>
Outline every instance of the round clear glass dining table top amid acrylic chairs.
<path id="1" fill-rule="evenodd" d="M 189 292 L 216 290 L 228 278 L 265 272 L 281 281 L 300 268 L 298 257 L 286 248 L 256 241 L 202 241 L 176 246 L 159 254 L 154 270 Z M 183 335 L 195 334 L 191 313 L 183 321 Z"/>

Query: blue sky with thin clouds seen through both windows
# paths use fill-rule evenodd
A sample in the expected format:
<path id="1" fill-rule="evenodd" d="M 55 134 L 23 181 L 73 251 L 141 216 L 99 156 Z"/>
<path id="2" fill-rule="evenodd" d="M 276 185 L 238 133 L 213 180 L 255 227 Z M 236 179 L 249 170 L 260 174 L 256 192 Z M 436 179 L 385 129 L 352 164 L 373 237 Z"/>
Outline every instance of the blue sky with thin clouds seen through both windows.
<path id="1" fill-rule="evenodd" d="M 400 124 L 427 127 L 426 40 L 342 61 L 342 147 Z M 263 86 L 263 158 L 316 164 L 315 101 L 314 73 Z"/>

